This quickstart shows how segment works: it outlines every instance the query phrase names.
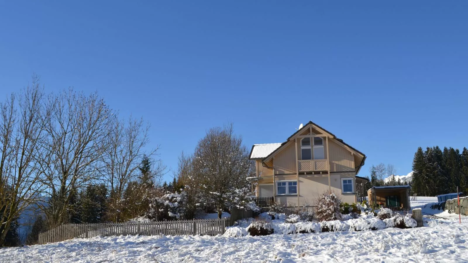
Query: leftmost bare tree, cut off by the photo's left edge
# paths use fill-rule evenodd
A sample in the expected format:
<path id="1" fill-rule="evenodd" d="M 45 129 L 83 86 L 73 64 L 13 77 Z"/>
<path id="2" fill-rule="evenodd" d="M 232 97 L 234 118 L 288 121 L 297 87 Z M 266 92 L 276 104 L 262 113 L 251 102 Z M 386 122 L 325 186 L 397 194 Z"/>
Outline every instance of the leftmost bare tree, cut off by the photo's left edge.
<path id="1" fill-rule="evenodd" d="M 35 161 L 43 132 L 39 77 L 22 94 L 0 103 L 0 246 L 12 222 L 37 197 L 39 169 Z M 17 103 L 17 106 L 16 106 Z"/>

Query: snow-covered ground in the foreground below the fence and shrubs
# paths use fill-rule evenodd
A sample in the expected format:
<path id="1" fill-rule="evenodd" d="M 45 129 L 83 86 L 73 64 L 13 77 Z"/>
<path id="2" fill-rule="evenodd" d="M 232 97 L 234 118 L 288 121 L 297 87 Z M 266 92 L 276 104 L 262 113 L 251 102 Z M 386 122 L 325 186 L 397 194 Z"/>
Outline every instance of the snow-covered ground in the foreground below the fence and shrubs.
<path id="1" fill-rule="evenodd" d="M 0 249 L 0 262 L 468 262 L 468 217 L 424 205 L 429 226 L 267 236 L 119 236 Z M 431 217 L 431 218 L 430 218 Z M 456 218 L 456 220 L 455 220 Z"/>

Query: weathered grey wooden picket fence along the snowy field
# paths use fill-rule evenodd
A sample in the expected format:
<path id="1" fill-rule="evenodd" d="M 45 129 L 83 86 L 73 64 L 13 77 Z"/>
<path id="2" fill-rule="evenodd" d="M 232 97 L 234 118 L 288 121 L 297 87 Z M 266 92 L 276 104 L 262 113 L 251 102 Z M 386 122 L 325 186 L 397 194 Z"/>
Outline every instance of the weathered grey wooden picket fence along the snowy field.
<path id="1" fill-rule="evenodd" d="M 156 222 L 64 224 L 39 234 L 38 244 L 112 235 L 217 235 L 224 234 L 229 218 Z"/>

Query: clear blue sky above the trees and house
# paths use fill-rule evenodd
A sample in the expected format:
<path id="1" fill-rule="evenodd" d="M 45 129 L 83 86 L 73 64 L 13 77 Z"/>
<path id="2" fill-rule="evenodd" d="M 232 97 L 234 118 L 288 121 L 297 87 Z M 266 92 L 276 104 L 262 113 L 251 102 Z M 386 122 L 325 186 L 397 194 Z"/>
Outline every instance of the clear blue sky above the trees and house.
<path id="1" fill-rule="evenodd" d="M 176 169 L 233 122 L 250 148 L 309 120 L 371 164 L 468 146 L 468 1 L 2 1 L 0 95 L 97 90 Z M 167 175 L 170 179 L 172 172 Z"/>

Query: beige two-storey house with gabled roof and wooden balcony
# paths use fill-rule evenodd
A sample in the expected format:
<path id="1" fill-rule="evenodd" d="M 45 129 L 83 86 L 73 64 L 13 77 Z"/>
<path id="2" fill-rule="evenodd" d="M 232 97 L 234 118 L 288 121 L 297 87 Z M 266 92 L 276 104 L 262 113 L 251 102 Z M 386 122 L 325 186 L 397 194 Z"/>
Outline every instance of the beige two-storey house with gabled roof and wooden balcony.
<path id="1" fill-rule="evenodd" d="M 356 176 L 366 155 L 313 122 L 283 143 L 253 145 L 250 160 L 256 163 L 256 177 L 249 181 L 257 197 L 282 205 L 315 205 L 324 192 L 351 204 L 367 180 Z"/>

